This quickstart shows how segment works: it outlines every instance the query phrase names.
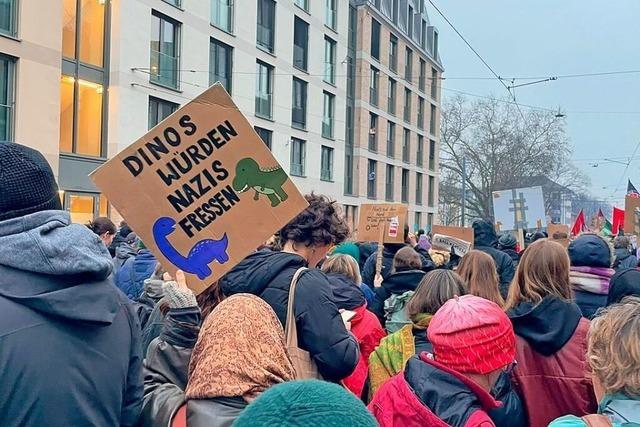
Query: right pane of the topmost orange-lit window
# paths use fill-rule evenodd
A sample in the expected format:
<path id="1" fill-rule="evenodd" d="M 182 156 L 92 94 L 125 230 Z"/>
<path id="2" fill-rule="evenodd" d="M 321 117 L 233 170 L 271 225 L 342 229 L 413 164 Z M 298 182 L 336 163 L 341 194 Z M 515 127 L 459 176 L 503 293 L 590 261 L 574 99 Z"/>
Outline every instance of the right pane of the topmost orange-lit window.
<path id="1" fill-rule="evenodd" d="M 80 4 L 80 61 L 102 67 L 104 56 L 105 2 L 82 0 Z"/>

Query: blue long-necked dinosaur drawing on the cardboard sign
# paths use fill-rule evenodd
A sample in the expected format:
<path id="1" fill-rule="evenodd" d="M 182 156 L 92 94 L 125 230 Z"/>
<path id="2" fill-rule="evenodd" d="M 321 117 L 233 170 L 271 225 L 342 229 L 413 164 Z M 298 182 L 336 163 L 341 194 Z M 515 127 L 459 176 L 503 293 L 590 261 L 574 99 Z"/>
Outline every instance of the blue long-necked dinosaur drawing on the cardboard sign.
<path id="1" fill-rule="evenodd" d="M 195 274 L 204 280 L 212 273 L 209 264 L 218 261 L 224 264 L 229 261 L 227 233 L 220 240 L 204 239 L 196 243 L 185 257 L 173 247 L 167 236 L 176 228 L 176 221 L 169 217 L 158 218 L 153 224 L 153 238 L 162 255 L 180 270 Z"/>

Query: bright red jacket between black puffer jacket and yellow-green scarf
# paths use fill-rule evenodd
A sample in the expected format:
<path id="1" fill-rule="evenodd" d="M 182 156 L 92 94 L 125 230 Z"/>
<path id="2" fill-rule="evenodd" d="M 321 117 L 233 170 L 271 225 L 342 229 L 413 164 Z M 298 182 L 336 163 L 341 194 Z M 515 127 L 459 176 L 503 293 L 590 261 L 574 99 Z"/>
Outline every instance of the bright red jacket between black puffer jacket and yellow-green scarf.
<path id="1" fill-rule="evenodd" d="M 353 394 L 362 397 L 362 389 L 369 375 L 369 355 L 387 334 L 376 315 L 367 310 L 366 304 L 353 311 L 356 315 L 351 319 L 351 332 L 360 346 L 360 360 L 353 373 L 342 382 Z"/>

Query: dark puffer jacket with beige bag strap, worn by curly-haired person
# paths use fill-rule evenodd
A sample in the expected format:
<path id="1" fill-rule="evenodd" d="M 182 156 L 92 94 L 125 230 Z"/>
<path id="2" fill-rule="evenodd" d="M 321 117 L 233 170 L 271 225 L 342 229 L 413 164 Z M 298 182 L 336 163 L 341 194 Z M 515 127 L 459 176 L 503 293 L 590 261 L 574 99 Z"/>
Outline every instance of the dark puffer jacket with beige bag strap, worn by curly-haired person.
<path id="1" fill-rule="evenodd" d="M 222 277 L 220 286 L 226 296 L 259 296 L 284 327 L 291 280 L 299 268 L 306 266 L 306 261 L 296 254 L 254 252 Z M 358 343 L 345 328 L 327 276 L 316 269 L 305 271 L 294 297 L 298 345 L 311 354 L 326 380 L 340 381 L 349 376 L 360 358 Z"/>

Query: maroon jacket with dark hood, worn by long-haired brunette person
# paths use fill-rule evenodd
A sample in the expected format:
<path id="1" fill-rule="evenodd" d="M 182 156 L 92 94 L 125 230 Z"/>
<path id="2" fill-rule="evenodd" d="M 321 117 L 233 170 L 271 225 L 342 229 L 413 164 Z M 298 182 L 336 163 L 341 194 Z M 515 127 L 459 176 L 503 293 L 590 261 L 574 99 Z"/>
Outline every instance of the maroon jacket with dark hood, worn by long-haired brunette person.
<path id="1" fill-rule="evenodd" d="M 513 380 L 529 425 L 593 413 L 597 405 L 586 360 L 589 321 L 580 308 L 547 296 L 537 305 L 521 303 L 508 315 L 516 333 Z"/>

